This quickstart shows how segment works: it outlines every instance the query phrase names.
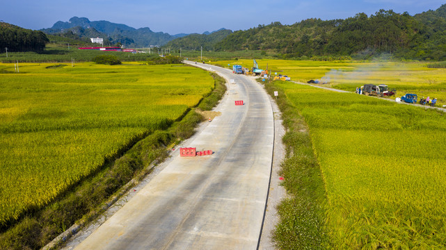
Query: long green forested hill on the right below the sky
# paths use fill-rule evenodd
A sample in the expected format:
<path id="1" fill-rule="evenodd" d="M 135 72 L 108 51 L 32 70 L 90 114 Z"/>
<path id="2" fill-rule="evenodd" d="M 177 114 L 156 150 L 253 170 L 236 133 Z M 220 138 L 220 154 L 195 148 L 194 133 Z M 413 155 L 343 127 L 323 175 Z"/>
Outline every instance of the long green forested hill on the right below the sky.
<path id="1" fill-rule="evenodd" d="M 392 53 L 398 58 L 446 60 L 446 5 L 415 16 L 380 10 L 347 19 L 306 19 L 235 31 L 215 44 L 216 51 L 272 50 L 284 58 Z"/>

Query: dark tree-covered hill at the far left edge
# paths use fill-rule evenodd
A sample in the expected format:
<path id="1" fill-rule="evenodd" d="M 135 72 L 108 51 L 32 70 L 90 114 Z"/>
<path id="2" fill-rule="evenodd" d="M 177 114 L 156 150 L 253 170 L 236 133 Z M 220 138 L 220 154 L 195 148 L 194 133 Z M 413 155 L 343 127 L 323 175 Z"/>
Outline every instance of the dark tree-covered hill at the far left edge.
<path id="1" fill-rule="evenodd" d="M 45 49 L 47 35 L 42 31 L 21 28 L 6 22 L 0 22 L 0 53 L 16 51 L 35 51 Z"/>

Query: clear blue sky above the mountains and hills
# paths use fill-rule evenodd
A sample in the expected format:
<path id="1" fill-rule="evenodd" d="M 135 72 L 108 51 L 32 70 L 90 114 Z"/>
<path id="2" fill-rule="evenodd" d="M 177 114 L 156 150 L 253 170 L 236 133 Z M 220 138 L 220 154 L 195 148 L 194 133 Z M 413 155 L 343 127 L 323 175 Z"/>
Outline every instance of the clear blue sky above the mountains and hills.
<path id="1" fill-rule="evenodd" d="M 246 30 L 258 24 L 294 24 L 307 18 L 337 19 L 358 12 L 372 15 L 380 9 L 411 15 L 436 10 L 445 1 L 437 0 L 90 0 L 2 1 L 0 20 L 24 28 L 50 28 L 57 21 L 87 17 L 134 28 L 149 27 L 155 32 L 203 33 L 219 28 Z"/>

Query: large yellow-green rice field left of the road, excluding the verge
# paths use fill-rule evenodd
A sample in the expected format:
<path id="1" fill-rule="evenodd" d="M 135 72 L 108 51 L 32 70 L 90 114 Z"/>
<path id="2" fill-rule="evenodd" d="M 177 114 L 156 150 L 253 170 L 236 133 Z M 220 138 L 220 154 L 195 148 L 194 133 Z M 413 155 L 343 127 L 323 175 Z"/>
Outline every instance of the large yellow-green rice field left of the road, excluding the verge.
<path id="1" fill-rule="evenodd" d="M 0 64 L 0 224 L 40 208 L 214 88 L 184 65 Z"/>

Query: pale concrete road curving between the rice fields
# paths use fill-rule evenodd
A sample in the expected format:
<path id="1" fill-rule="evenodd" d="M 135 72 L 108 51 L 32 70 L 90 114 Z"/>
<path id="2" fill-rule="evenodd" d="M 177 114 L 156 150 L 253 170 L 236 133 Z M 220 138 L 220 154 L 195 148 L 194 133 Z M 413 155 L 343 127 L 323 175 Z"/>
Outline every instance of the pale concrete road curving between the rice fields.
<path id="1" fill-rule="evenodd" d="M 257 249 L 271 175 L 271 103 L 253 78 L 200 66 L 227 78 L 229 89 L 217 107 L 221 116 L 184 146 L 214 154 L 175 153 L 76 249 Z"/>

